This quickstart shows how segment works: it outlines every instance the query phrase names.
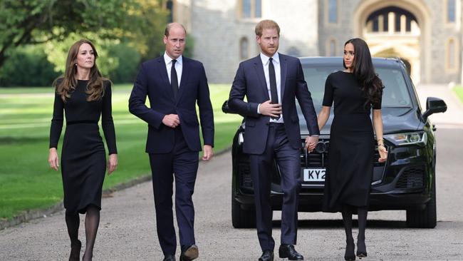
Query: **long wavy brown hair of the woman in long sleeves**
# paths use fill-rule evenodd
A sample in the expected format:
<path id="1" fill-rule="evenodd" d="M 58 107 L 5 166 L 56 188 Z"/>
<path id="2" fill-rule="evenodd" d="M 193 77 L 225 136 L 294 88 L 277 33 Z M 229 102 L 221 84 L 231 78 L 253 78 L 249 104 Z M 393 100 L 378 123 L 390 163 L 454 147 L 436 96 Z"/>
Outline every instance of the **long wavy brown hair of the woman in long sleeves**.
<path id="1" fill-rule="evenodd" d="M 80 39 L 79 41 L 76 41 L 76 43 L 74 43 L 71 48 L 69 48 L 64 76 L 61 76 L 53 82 L 53 87 L 56 88 L 56 93 L 61 96 L 61 99 L 64 102 L 66 102 L 67 98 L 71 98 L 71 93 L 76 90 L 76 58 L 79 52 L 79 48 L 82 44 L 89 44 L 92 47 L 93 55 L 95 56 L 93 67 L 90 68 L 90 77 L 87 83 L 87 88 L 85 88 L 85 93 L 88 94 L 87 101 L 98 101 L 105 95 L 105 87 L 103 86 L 103 80 L 105 80 L 105 78 L 101 76 L 100 70 L 98 70 L 98 66 L 96 66 L 96 58 L 98 58 L 98 53 L 96 52 L 95 46 L 91 41 Z"/>

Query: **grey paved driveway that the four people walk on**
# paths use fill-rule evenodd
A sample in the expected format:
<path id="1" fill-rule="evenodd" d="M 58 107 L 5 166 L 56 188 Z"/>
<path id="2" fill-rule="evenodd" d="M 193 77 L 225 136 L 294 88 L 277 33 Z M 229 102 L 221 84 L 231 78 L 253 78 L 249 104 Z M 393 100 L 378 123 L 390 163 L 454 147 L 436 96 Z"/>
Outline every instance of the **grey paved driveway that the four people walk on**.
<path id="1" fill-rule="evenodd" d="M 418 88 L 422 96 L 448 99 L 441 89 Z M 439 87 L 442 88 L 442 87 Z M 449 111 L 462 115 L 458 103 Z M 450 109 L 451 108 L 451 109 Z M 435 229 L 405 227 L 404 211 L 369 214 L 368 260 L 463 260 L 463 126 L 434 117 L 437 124 L 437 209 Z M 445 128 L 441 128 L 444 126 Z M 458 142 L 457 142 L 458 141 Z M 116 174 L 117 175 L 117 174 Z M 194 204 L 197 210 L 198 260 L 257 260 L 259 243 L 253 229 L 231 227 L 231 157 L 229 153 L 199 165 Z M 155 235 L 151 183 L 103 199 L 95 260 L 162 260 Z M 83 218 L 83 216 L 81 216 Z M 297 249 L 306 260 L 342 260 L 344 232 L 339 214 L 301 213 Z M 274 215 L 279 220 L 279 212 Z M 279 244 L 279 222 L 274 237 Z M 85 238 L 83 219 L 80 238 Z M 67 260 L 68 235 L 63 211 L 0 231 L 0 260 Z M 178 255 L 178 251 L 177 251 Z M 278 259 L 276 259 L 278 260 Z"/>

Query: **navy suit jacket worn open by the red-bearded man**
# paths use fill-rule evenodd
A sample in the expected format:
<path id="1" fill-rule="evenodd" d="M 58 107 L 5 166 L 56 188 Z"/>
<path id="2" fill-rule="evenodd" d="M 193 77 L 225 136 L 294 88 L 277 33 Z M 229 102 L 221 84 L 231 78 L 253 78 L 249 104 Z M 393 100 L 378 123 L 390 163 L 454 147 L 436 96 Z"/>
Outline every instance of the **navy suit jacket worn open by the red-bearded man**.
<path id="1" fill-rule="evenodd" d="M 286 135 L 293 148 L 301 148 L 301 130 L 296 110 L 296 98 L 306 119 L 310 135 L 320 134 L 317 116 L 315 108 L 313 108 L 311 93 L 304 80 L 301 61 L 281 53 L 279 53 L 279 58 L 283 96 L 281 103 Z M 247 102 L 243 101 L 244 96 L 246 96 Z M 241 62 L 231 86 L 228 106 L 231 110 L 246 116 L 244 153 L 264 153 L 270 118 L 257 113 L 257 106 L 259 103 L 269 100 L 261 57 L 256 56 Z"/>

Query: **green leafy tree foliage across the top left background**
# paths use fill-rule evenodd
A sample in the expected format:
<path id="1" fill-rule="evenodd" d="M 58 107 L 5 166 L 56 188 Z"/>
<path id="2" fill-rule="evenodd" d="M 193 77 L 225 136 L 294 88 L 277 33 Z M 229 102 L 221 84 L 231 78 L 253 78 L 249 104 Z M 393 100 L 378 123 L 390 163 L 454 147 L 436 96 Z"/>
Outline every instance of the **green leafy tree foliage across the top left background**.
<path id="1" fill-rule="evenodd" d="M 71 33 L 141 39 L 134 45 L 147 54 L 149 36 L 166 21 L 161 0 L 0 0 L 0 68 L 11 49 L 63 41 Z"/>

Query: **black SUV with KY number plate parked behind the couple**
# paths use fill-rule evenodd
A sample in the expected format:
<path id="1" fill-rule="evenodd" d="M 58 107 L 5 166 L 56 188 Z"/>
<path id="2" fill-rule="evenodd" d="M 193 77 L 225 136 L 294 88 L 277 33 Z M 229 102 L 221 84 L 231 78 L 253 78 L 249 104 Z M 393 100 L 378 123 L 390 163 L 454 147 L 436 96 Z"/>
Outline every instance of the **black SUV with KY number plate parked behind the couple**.
<path id="1" fill-rule="evenodd" d="M 301 58 L 304 76 L 311 91 L 316 111 L 320 111 L 325 81 L 330 73 L 343 70 L 342 57 Z M 447 110 L 439 98 L 427 98 L 422 111 L 415 86 L 405 64 L 398 58 L 373 58 L 375 71 L 385 86 L 383 93 L 384 140 L 389 155 L 386 163 L 378 163 L 378 148 L 371 182 L 370 210 L 407 210 L 408 227 L 436 226 L 436 140 L 435 127 L 428 116 Z M 298 105 L 298 103 L 296 103 Z M 224 113 L 234 113 L 225 101 Z M 307 133 L 306 121 L 299 110 L 301 143 Z M 328 161 L 330 128 L 333 111 L 321 130 L 316 151 L 301 149 L 301 190 L 299 211 L 321 211 L 323 183 Z M 231 218 L 233 226 L 255 227 L 254 190 L 249 170 L 249 156 L 242 151 L 246 126 L 239 126 L 231 150 Z M 271 205 L 281 210 L 283 192 L 281 176 L 275 163 L 271 173 Z"/>

